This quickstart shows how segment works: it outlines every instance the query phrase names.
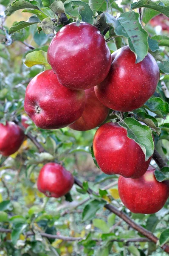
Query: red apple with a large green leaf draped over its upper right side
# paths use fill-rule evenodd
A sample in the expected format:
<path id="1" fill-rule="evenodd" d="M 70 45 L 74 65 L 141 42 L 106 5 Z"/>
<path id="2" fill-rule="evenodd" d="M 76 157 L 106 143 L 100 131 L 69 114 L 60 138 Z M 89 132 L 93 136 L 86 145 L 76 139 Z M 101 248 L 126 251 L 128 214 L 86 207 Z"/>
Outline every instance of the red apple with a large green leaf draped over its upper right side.
<path id="1" fill-rule="evenodd" d="M 126 178 L 144 175 L 151 161 L 145 161 L 141 147 L 127 137 L 127 130 L 118 123 L 108 122 L 96 131 L 93 152 L 102 172 Z"/>

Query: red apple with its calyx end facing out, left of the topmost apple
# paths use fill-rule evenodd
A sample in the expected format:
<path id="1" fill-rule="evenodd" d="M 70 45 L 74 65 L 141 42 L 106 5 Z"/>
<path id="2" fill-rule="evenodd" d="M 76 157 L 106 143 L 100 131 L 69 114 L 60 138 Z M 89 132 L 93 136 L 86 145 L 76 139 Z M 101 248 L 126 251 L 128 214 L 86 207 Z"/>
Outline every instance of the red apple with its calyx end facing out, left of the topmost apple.
<path id="1" fill-rule="evenodd" d="M 85 91 L 62 86 L 53 70 L 35 76 L 28 84 L 25 112 L 42 129 L 59 129 L 75 122 L 85 108 Z"/>

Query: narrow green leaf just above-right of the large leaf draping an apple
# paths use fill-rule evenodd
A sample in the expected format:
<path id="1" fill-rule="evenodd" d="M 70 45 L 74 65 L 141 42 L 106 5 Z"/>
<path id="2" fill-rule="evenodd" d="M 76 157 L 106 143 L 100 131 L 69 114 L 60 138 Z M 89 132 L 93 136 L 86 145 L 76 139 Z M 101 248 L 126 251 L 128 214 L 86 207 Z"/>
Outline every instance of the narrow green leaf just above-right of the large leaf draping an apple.
<path id="1" fill-rule="evenodd" d="M 150 116 L 145 112 L 138 112 L 137 116 L 139 121 L 143 121 L 146 125 L 154 129 L 158 135 L 161 133 L 161 128 L 158 127 L 158 121 L 155 117 Z"/>

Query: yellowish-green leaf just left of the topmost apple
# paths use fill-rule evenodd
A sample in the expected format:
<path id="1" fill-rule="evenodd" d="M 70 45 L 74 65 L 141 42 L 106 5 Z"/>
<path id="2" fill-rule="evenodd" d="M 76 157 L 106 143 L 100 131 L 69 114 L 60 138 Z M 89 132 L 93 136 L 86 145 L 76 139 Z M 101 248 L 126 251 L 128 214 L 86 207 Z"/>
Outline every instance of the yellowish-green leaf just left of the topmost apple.
<path id="1" fill-rule="evenodd" d="M 44 51 L 34 51 L 26 55 L 25 65 L 27 67 L 32 67 L 34 65 L 43 65 L 45 70 L 51 69 L 51 66 L 47 61 L 47 53 Z"/>

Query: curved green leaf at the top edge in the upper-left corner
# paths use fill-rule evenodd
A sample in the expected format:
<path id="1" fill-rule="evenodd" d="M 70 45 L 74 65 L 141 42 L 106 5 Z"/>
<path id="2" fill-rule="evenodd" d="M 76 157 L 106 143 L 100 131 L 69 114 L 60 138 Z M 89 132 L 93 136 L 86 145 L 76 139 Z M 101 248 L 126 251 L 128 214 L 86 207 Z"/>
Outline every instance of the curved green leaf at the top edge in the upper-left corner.
<path id="1" fill-rule="evenodd" d="M 33 1 L 31 1 L 33 2 Z M 36 2 L 36 1 L 35 1 Z M 37 2 L 39 3 L 39 2 Z M 38 6 L 30 3 L 29 1 L 25 1 L 25 0 L 19 0 L 19 1 L 14 1 L 11 4 L 8 4 L 8 7 L 6 8 L 6 15 L 9 16 L 11 15 L 13 12 L 20 10 L 20 9 L 27 9 L 27 8 L 31 8 L 31 9 L 37 9 L 39 10 Z"/>

